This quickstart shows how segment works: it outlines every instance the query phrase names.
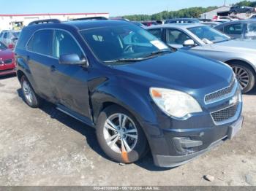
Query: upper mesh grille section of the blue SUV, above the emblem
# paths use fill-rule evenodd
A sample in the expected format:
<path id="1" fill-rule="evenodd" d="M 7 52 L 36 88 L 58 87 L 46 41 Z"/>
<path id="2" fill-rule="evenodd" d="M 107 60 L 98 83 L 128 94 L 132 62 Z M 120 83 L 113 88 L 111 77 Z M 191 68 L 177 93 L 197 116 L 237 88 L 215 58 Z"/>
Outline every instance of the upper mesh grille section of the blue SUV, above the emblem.
<path id="1" fill-rule="evenodd" d="M 226 87 L 222 90 L 218 90 L 217 92 L 210 93 L 210 94 L 206 95 L 205 103 L 209 104 L 211 102 L 218 101 L 218 100 L 221 100 L 222 98 L 227 97 L 232 92 L 235 85 L 236 85 L 236 80 L 233 80 L 233 82 L 231 83 L 231 85 L 229 87 Z"/>

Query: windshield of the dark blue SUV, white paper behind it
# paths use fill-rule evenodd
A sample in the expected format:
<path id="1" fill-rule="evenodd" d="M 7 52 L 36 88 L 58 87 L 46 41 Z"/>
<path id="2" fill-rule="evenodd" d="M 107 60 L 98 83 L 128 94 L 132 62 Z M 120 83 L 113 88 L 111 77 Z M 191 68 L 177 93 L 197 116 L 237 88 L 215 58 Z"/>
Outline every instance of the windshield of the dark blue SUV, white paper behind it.
<path id="1" fill-rule="evenodd" d="M 167 45 L 135 25 L 105 26 L 80 31 L 100 61 L 141 60 L 151 53 L 170 50 Z"/>

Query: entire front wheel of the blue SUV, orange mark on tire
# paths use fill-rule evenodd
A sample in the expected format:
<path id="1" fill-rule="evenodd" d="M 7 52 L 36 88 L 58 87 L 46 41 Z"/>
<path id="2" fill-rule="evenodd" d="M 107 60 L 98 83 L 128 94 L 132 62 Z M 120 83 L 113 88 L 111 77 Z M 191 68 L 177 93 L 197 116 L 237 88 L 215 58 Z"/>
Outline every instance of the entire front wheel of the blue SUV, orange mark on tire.
<path id="1" fill-rule="evenodd" d="M 124 133 L 124 131 L 121 131 L 122 129 L 116 131 L 120 126 L 119 117 L 122 119 L 121 124 L 122 121 L 125 121 L 123 127 L 127 132 L 127 136 L 122 138 L 121 133 Z M 125 117 L 127 117 L 126 120 L 124 120 Z M 113 130 L 113 125 L 115 130 Z M 128 133 L 128 130 L 130 133 Z M 137 130 L 136 133 L 135 130 Z M 96 132 L 99 146 L 111 160 L 118 163 L 134 163 L 146 155 L 148 151 L 148 142 L 143 129 L 132 114 L 119 106 L 109 106 L 99 114 Z M 137 140 L 134 138 L 136 136 Z"/>

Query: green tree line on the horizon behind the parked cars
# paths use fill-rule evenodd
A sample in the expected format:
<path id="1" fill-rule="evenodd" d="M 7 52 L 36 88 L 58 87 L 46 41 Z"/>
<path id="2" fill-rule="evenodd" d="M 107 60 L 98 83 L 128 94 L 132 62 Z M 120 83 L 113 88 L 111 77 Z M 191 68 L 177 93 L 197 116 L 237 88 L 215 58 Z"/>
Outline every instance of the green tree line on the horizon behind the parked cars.
<path id="1" fill-rule="evenodd" d="M 233 5 L 256 7 L 256 1 L 241 1 Z M 212 7 L 191 7 L 187 9 L 180 9 L 177 11 L 162 11 L 153 15 L 125 15 L 124 18 L 129 20 L 167 20 L 169 18 L 179 18 L 179 17 L 200 17 L 200 14 L 204 12 L 209 12 L 211 10 L 217 9 L 217 6 Z"/>

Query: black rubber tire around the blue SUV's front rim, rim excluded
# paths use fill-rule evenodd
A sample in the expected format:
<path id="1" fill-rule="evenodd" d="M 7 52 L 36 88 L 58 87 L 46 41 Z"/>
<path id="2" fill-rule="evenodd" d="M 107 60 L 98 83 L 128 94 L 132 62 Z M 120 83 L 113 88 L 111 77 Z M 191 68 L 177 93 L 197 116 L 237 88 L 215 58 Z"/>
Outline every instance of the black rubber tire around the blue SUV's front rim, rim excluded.
<path id="1" fill-rule="evenodd" d="M 118 153 L 111 149 L 108 146 L 104 136 L 105 122 L 108 119 L 108 117 L 113 116 L 115 114 L 125 114 L 127 117 L 129 117 L 129 119 L 134 122 L 138 132 L 138 139 L 135 144 L 135 147 L 130 152 L 127 152 L 125 155 L 123 155 L 123 152 Z M 143 132 L 143 129 L 140 127 L 140 124 L 137 122 L 135 117 L 132 116 L 132 114 L 127 112 L 127 110 L 116 105 L 109 106 L 99 114 L 97 120 L 97 139 L 99 142 L 99 146 L 102 148 L 105 154 L 108 155 L 108 157 L 110 157 L 111 160 L 116 161 L 118 163 L 134 163 L 135 161 L 139 160 L 141 157 L 146 155 L 146 152 L 148 151 L 148 142 Z M 117 146 L 117 144 L 114 145 Z"/>

